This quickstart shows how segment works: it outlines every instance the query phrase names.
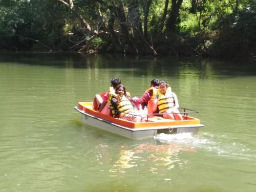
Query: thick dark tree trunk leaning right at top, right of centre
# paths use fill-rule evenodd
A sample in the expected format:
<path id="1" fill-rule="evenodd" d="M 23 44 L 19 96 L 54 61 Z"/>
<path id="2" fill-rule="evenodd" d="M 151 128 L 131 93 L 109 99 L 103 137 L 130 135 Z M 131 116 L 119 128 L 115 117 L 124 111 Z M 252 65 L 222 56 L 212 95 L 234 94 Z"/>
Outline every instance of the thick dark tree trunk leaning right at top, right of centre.
<path id="1" fill-rule="evenodd" d="M 167 31 L 174 32 L 176 30 L 177 18 L 179 17 L 179 10 L 183 0 L 172 0 L 172 8 L 167 20 Z"/>

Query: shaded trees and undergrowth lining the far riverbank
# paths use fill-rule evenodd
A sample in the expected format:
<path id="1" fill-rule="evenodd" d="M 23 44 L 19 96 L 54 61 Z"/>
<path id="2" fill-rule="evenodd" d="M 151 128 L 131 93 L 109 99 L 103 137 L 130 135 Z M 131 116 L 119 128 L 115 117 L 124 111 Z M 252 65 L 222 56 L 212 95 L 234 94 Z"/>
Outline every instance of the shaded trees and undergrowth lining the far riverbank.
<path id="1" fill-rule="evenodd" d="M 0 50 L 256 55 L 254 0 L 0 0 Z"/>

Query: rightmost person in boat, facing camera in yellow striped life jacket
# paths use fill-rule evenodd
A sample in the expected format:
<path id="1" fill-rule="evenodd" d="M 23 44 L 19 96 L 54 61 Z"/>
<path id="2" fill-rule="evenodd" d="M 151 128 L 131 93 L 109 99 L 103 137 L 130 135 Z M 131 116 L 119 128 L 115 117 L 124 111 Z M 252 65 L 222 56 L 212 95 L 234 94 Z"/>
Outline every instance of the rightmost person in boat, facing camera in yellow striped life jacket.
<path id="1" fill-rule="evenodd" d="M 162 114 L 163 118 L 166 119 L 183 120 L 179 111 L 177 95 L 172 92 L 172 89 L 168 86 L 167 82 L 159 82 L 159 89 L 157 90 L 157 94 L 157 108 L 159 114 Z"/>

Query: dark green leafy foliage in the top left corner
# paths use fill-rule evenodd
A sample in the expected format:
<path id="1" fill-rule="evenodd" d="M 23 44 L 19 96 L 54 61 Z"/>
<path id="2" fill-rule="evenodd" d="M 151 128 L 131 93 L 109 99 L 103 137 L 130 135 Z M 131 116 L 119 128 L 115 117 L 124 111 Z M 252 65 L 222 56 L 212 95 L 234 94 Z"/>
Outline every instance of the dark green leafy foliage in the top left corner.
<path id="1" fill-rule="evenodd" d="M 51 0 L 31 0 L 5 3 L 0 15 L 1 35 L 19 35 L 54 47 L 57 38 L 61 37 L 61 28 L 65 25 L 63 16 L 66 16 L 66 13 L 59 4 Z M 24 42 L 23 46 L 26 44 L 26 49 L 35 43 L 28 40 L 25 42 L 24 39 L 20 41 Z"/>

